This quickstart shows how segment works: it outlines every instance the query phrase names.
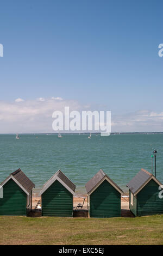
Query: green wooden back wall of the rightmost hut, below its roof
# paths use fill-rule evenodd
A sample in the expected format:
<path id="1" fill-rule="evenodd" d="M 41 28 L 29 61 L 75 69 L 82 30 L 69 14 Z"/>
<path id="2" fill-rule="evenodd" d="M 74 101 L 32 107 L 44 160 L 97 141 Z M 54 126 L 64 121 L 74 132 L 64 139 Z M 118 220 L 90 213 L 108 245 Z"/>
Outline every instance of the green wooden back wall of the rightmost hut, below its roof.
<path id="1" fill-rule="evenodd" d="M 137 216 L 163 214 L 163 199 L 159 198 L 159 185 L 151 180 L 137 194 Z"/>

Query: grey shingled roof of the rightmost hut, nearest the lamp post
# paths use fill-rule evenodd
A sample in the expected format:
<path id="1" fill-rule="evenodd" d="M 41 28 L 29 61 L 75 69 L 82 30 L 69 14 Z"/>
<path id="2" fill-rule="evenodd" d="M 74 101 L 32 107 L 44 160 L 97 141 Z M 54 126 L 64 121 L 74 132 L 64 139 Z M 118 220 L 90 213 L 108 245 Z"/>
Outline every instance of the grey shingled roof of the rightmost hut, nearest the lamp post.
<path id="1" fill-rule="evenodd" d="M 154 179 L 159 185 L 161 185 L 160 181 L 158 181 L 152 173 L 149 173 L 145 169 L 141 169 L 139 173 L 135 175 L 133 179 L 130 180 L 130 182 L 127 184 L 127 187 L 131 192 L 134 194 L 140 190 L 140 188 L 143 188 L 143 185 L 148 183 L 149 180 Z"/>

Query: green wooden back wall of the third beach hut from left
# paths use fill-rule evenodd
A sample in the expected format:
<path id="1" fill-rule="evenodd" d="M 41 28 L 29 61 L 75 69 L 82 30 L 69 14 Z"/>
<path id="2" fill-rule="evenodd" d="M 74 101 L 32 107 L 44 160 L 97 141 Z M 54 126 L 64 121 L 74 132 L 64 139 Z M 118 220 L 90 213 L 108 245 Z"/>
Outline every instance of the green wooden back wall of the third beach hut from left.
<path id="1" fill-rule="evenodd" d="M 121 194 L 106 180 L 90 195 L 90 217 L 120 217 Z"/>

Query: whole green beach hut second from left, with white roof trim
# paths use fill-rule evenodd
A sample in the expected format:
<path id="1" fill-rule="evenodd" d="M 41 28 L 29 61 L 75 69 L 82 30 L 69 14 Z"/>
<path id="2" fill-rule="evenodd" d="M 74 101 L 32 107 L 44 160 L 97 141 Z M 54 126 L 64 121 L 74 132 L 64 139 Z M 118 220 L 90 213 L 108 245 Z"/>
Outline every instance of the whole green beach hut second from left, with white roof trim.
<path id="1" fill-rule="evenodd" d="M 42 216 L 72 217 L 76 186 L 58 170 L 40 191 Z"/>

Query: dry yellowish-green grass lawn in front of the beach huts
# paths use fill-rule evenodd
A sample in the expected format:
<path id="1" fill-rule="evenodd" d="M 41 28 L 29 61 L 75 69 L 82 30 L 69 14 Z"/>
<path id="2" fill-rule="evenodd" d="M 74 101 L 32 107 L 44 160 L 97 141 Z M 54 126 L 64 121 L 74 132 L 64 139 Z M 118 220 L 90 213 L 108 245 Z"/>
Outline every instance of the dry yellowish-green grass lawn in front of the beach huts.
<path id="1" fill-rule="evenodd" d="M 0 245 L 163 245 L 163 215 L 136 218 L 0 217 Z"/>

